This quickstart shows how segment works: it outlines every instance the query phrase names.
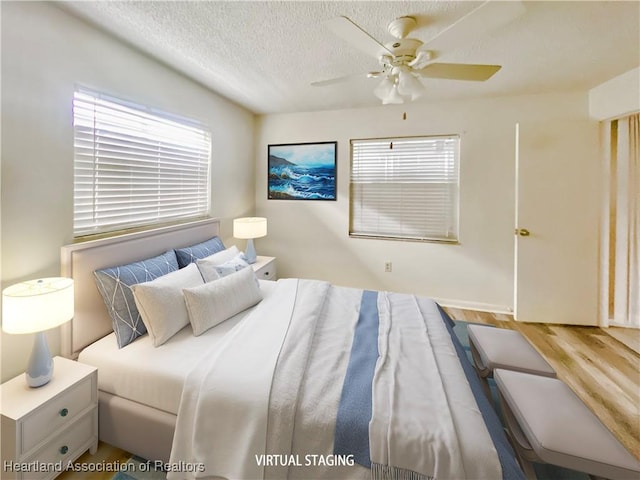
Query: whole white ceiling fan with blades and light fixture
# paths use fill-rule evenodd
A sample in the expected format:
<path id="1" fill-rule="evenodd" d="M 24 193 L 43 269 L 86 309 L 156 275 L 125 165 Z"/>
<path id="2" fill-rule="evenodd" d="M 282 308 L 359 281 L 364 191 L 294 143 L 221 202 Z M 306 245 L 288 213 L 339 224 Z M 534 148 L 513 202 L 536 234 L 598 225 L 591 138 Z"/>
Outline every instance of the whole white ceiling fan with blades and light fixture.
<path id="1" fill-rule="evenodd" d="M 447 45 L 453 46 L 462 37 L 471 40 L 474 33 L 479 35 L 482 31 L 508 23 L 523 12 L 521 2 L 486 1 L 426 43 L 408 36 L 417 27 L 416 18 L 412 16 L 396 18 L 389 24 L 388 30 L 394 40 L 385 44 L 348 17 L 331 19 L 327 25 L 336 35 L 378 59 L 379 70 L 366 75 L 382 79 L 373 93 L 383 104 L 389 104 L 419 98 L 425 92 L 422 78 L 479 82 L 491 78 L 500 70 L 500 65 L 434 62 L 435 50 Z M 331 85 L 352 77 L 353 75 L 333 78 L 313 82 L 311 85 Z"/>

